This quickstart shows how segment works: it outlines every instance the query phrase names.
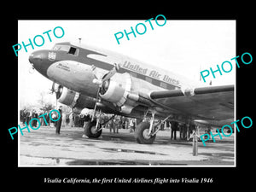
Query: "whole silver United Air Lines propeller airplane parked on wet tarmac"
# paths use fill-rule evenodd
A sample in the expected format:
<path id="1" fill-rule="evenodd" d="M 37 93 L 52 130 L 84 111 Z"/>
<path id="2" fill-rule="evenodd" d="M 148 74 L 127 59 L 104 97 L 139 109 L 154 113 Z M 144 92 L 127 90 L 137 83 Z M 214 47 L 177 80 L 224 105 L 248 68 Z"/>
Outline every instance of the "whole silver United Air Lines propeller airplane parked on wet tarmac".
<path id="1" fill-rule="evenodd" d="M 87 137 L 100 137 L 98 113 L 143 119 L 137 143 L 154 143 L 161 119 L 195 125 L 225 125 L 234 119 L 234 85 L 206 86 L 176 73 L 94 46 L 63 42 L 29 55 L 38 73 L 53 81 L 58 102 L 81 111 L 93 109 L 84 126 Z M 145 120 L 148 119 L 149 121 Z M 219 122 L 219 123 L 217 123 Z M 188 128 L 189 129 L 189 128 Z"/>

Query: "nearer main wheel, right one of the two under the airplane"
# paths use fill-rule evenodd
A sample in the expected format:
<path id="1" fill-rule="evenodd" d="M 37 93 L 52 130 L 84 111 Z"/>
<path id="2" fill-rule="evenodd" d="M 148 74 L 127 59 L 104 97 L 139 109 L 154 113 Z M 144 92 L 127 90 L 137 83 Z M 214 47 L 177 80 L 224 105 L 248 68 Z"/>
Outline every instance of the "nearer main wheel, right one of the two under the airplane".
<path id="1" fill-rule="evenodd" d="M 140 144 L 154 143 L 154 139 L 156 135 L 149 136 L 149 126 L 150 124 L 148 122 L 142 122 L 139 125 L 137 125 L 135 130 L 135 138 L 137 140 L 137 143 L 140 143 Z"/>

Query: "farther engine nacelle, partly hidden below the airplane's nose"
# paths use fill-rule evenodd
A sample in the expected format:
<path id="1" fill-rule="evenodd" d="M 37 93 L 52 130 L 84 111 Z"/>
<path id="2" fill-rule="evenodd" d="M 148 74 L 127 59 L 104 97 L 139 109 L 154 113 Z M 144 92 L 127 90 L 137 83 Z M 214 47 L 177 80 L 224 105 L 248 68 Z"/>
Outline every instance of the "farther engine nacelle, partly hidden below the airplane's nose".
<path id="1" fill-rule="evenodd" d="M 58 102 L 71 108 L 94 108 L 96 103 L 96 99 L 90 96 L 84 96 L 79 92 L 69 90 L 61 85 L 59 85 L 56 91 L 56 98 Z"/>

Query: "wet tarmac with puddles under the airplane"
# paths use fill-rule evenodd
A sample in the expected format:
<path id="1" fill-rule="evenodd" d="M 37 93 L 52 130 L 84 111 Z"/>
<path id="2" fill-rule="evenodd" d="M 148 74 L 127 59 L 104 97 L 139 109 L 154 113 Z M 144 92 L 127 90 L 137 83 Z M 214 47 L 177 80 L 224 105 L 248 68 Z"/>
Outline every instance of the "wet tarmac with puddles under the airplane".
<path id="1" fill-rule="evenodd" d="M 99 138 L 82 137 L 81 127 L 41 126 L 19 136 L 19 166 L 236 166 L 234 134 L 206 147 L 198 143 L 193 155 L 192 142 L 171 140 L 171 131 L 159 131 L 153 144 L 139 144 L 134 133 L 103 129 Z"/>

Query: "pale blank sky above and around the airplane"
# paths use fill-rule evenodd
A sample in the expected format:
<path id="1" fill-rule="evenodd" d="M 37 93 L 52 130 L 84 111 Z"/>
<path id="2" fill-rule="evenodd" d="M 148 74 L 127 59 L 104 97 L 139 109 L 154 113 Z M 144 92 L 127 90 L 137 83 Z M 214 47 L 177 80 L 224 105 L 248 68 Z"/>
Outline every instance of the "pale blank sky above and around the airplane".
<path id="1" fill-rule="evenodd" d="M 151 17 L 149 15 L 148 19 Z M 36 35 L 44 37 L 43 46 L 34 45 L 34 49 L 29 46 L 27 52 L 23 48 L 18 53 L 20 107 L 37 102 L 41 92 L 45 93 L 46 101 L 55 103 L 55 95 L 47 94 L 52 82 L 36 70 L 30 73 L 28 57 L 35 50 L 51 49 L 60 42 L 78 43 L 81 38 L 82 44 L 128 55 L 195 81 L 200 80 L 201 71 L 210 67 L 217 69 L 217 64 L 221 66 L 236 56 L 236 20 L 167 20 L 164 26 L 157 26 L 154 20 L 151 22 L 154 30 L 145 20 L 19 20 L 17 44 L 22 41 L 28 44 L 28 38 L 33 39 Z M 124 30 L 131 32 L 131 26 L 135 29 L 138 23 L 143 23 L 147 31 L 137 34 L 137 38 L 129 35 L 129 41 L 121 38 L 118 44 L 114 34 Z M 62 38 L 55 38 L 52 33 L 56 26 L 64 29 Z M 49 32 L 52 42 L 43 34 L 49 30 L 52 30 Z M 212 85 L 235 84 L 236 65 L 235 61 L 230 62 L 233 70 L 222 76 L 216 73 L 216 79 L 207 78 L 206 86 L 210 80 Z"/>

